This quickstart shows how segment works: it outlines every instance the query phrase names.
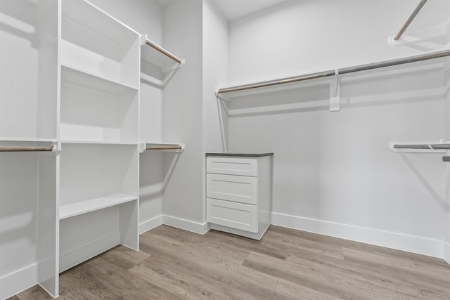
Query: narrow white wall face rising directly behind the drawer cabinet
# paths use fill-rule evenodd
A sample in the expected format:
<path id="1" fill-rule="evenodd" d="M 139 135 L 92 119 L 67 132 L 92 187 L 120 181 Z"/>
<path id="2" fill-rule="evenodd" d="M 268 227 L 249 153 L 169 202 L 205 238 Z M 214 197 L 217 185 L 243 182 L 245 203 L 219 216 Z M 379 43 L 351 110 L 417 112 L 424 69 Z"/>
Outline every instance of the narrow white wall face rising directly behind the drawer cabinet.
<path id="1" fill-rule="evenodd" d="M 203 154 L 226 152 L 228 142 L 228 115 L 224 103 L 217 100 L 216 91 L 228 80 L 228 21 L 214 1 L 203 0 Z M 205 183 L 203 159 L 203 183 Z M 206 200 L 203 187 L 203 200 Z M 203 222 L 206 221 L 206 204 L 203 203 Z"/>

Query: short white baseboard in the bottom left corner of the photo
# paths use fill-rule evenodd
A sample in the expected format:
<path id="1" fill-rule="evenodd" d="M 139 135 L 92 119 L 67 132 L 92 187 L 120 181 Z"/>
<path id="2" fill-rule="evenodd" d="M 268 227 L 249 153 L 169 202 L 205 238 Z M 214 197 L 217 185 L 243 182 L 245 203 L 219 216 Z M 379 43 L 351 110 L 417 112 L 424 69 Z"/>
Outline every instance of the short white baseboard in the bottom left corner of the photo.
<path id="1" fill-rule="evenodd" d="M 0 277 L 0 299 L 6 299 L 38 282 L 37 263 Z"/>

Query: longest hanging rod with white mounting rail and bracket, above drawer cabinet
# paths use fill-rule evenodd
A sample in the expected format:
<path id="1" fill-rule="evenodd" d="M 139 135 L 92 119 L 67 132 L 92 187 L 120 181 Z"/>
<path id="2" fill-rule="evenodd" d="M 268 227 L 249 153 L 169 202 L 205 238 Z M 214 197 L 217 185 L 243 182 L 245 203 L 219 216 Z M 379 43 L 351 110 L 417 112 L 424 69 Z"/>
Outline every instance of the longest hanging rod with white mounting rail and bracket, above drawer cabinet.
<path id="1" fill-rule="evenodd" d="M 410 72 L 446 72 L 449 70 L 450 50 L 429 52 L 418 56 L 386 60 L 366 65 L 336 68 L 311 74 L 301 74 L 294 77 L 285 77 L 268 81 L 259 81 L 238 86 L 229 86 L 218 89 L 215 95 L 219 100 L 233 102 L 235 98 L 252 95 L 255 93 L 270 93 L 286 89 L 301 89 L 309 86 L 329 86 L 330 96 L 328 107 L 330 111 L 340 110 L 340 86 L 345 82 L 358 81 L 361 79 L 387 77 L 394 74 L 407 74 Z M 277 105 L 277 103 L 270 103 Z M 249 107 L 228 108 L 230 116 L 248 115 L 252 113 L 264 113 L 276 110 L 277 107 Z M 302 107 L 307 108 L 323 106 L 324 103 L 304 103 Z M 279 110 L 289 110 L 294 105 L 281 105 Z"/>

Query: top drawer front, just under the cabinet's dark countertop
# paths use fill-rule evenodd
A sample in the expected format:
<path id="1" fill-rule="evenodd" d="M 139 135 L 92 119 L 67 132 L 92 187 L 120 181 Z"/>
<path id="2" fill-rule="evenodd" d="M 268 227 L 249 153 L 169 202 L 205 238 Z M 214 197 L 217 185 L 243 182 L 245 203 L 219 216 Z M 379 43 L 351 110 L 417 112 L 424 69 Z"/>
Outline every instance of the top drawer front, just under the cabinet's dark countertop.
<path id="1" fill-rule="evenodd" d="M 206 157 L 207 173 L 256 176 L 257 166 L 255 158 Z"/>

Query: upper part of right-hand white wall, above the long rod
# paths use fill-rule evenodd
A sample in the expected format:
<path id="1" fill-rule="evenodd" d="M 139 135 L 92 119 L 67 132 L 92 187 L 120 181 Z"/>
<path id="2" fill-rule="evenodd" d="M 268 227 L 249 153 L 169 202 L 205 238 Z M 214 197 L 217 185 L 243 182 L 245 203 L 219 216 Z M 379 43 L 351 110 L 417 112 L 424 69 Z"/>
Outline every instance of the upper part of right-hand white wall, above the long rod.
<path id="1" fill-rule="evenodd" d="M 410 0 L 291 0 L 240 18 L 229 28 L 229 84 L 333 70 L 442 46 L 388 43 L 416 5 Z M 447 0 L 428 1 L 406 33 L 449 22 L 449 11 Z"/>

